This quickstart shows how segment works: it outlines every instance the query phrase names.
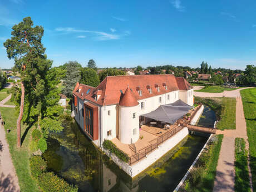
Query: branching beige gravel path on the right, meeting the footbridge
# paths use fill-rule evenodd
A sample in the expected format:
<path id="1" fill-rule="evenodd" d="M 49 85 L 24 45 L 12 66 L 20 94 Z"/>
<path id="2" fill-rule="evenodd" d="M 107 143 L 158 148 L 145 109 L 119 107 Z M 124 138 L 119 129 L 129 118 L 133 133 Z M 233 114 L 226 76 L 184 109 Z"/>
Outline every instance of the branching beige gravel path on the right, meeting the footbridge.
<path id="1" fill-rule="evenodd" d="M 245 87 L 252 88 L 252 87 Z M 248 149 L 248 137 L 246 122 L 244 117 L 243 102 L 240 96 L 240 90 L 245 88 L 239 88 L 233 91 L 224 91 L 222 93 L 208 93 L 208 92 L 194 92 L 195 96 L 199 97 L 235 97 L 236 103 L 236 120 L 235 130 L 217 130 L 216 134 L 223 134 L 223 142 L 221 144 L 220 156 L 218 166 L 216 168 L 216 177 L 214 181 L 214 192 L 232 192 L 235 186 L 235 138 L 242 137 L 247 142 Z M 249 169 L 250 171 L 250 169 Z M 250 174 L 250 183 L 252 188 L 252 175 Z"/>

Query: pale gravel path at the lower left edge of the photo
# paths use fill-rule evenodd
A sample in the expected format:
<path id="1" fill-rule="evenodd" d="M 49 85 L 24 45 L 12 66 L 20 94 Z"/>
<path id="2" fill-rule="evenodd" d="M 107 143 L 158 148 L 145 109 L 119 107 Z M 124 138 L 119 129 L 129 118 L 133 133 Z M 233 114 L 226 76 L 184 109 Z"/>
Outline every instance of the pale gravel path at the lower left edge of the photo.
<path id="1" fill-rule="evenodd" d="M 20 192 L 2 124 L 0 125 L 0 192 Z"/>

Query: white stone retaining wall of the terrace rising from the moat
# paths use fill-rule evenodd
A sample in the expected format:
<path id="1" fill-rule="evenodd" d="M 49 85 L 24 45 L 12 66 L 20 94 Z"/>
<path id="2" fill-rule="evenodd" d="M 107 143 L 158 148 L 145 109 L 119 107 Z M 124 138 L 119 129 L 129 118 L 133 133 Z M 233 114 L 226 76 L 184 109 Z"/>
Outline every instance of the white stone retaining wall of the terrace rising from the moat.
<path id="1" fill-rule="evenodd" d="M 161 156 L 165 155 L 166 152 L 170 151 L 175 147 L 181 140 L 183 140 L 189 134 L 188 128 L 184 127 L 173 137 L 170 137 L 168 140 L 164 141 L 157 149 L 152 151 L 147 155 L 146 158 L 140 160 L 138 163 L 134 165 L 129 165 L 124 161 L 120 160 L 115 154 L 111 154 L 109 151 L 102 149 L 106 152 L 106 155 L 111 157 L 112 161 L 114 161 L 122 170 L 124 170 L 128 175 L 132 178 L 137 174 L 144 171 L 150 165 L 154 164 Z"/>

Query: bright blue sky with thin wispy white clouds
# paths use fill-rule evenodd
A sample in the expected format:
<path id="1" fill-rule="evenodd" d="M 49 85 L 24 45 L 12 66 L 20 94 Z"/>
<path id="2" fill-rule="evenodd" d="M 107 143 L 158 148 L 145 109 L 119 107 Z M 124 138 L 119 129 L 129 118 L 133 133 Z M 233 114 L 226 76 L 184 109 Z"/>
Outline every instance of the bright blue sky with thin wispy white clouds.
<path id="1" fill-rule="evenodd" d="M 91 58 L 98 67 L 256 63 L 256 1 L 0 1 L 1 68 L 13 66 L 3 42 L 27 16 L 45 28 L 53 66 Z"/>

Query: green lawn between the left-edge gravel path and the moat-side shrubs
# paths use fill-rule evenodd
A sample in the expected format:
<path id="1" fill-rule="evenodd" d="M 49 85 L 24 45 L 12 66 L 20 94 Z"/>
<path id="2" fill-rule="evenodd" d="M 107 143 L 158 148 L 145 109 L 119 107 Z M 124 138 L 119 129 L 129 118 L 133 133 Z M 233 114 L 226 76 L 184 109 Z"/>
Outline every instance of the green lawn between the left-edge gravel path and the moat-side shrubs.
<path id="1" fill-rule="evenodd" d="M 39 192 L 36 181 L 31 178 L 29 168 L 29 157 L 31 156 L 31 152 L 29 152 L 29 142 L 31 140 L 31 132 L 35 128 L 31 127 L 31 129 L 26 129 L 26 126 L 22 126 L 21 135 L 23 136 L 24 132 L 27 132 L 27 135 L 24 137 L 21 149 L 17 149 L 16 111 L 8 107 L 0 107 L 0 111 L 5 122 L 4 129 L 11 129 L 11 132 L 6 132 L 6 138 L 21 191 Z"/>

